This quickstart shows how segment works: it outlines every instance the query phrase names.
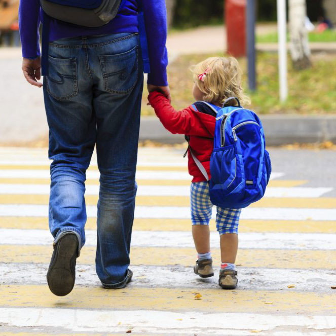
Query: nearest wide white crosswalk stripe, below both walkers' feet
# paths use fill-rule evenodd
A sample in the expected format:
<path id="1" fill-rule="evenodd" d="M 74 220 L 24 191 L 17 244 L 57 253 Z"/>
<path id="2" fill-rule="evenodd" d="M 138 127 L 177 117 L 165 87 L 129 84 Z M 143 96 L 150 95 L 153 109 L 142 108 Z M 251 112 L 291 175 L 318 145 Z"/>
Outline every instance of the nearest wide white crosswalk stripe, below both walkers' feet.
<path id="1" fill-rule="evenodd" d="M 21 317 L 21 318 L 20 318 Z M 223 323 L 225 321 L 225 323 Z M 86 310 L 65 308 L 0 308 L 0 322 L 16 327 L 57 328 L 60 333 L 121 332 L 131 326 L 132 333 L 250 335 L 251 330 L 279 326 L 316 330 L 336 327 L 335 316 L 267 315 L 247 313 L 163 312 L 151 310 Z M 332 330 L 331 330 L 332 331 Z M 304 331 L 305 332 L 305 331 Z M 292 332 L 291 335 L 297 333 Z M 305 333 L 302 333 L 305 334 Z"/>

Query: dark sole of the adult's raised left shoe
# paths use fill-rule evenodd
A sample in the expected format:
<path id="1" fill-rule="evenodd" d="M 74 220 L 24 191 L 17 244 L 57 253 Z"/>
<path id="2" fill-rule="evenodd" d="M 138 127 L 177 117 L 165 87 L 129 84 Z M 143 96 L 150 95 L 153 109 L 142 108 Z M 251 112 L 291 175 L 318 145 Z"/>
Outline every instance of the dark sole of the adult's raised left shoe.
<path id="1" fill-rule="evenodd" d="M 64 296 L 71 292 L 74 286 L 74 274 L 71 272 L 71 259 L 77 257 L 78 239 L 76 235 L 67 234 L 57 244 L 53 264 L 47 273 L 47 282 L 51 292 Z"/>

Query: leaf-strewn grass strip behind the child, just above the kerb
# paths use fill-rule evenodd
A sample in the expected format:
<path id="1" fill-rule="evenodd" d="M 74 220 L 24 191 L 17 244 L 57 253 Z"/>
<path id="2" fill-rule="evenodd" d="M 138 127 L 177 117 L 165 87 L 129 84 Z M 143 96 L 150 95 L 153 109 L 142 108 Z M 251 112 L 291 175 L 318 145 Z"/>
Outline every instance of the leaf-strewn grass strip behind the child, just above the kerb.
<path id="1" fill-rule="evenodd" d="M 206 57 L 214 55 L 185 55 L 178 57 L 168 66 L 168 80 L 172 94 L 172 105 L 182 109 L 194 102 L 192 97 L 193 80 L 189 70 Z M 217 56 L 222 56 L 217 54 Z M 239 63 L 246 72 L 246 59 Z M 250 96 L 252 104 L 246 106 L 259 114 L 298 113 L 328 114 L 336 113 L 336 57 L 334 54 L 319 54 L 312 57 L 313 66 L 296 71 L 288 57 L 288 100 L 279 102 L 278 57 L 276 53 L 257 54 L 257 90 L 248 92 L 246 74 L 243 87 Z M 146 106 L 147 90 L 144 90 L 142 115 L 154 115 L 153 108 Z"/>

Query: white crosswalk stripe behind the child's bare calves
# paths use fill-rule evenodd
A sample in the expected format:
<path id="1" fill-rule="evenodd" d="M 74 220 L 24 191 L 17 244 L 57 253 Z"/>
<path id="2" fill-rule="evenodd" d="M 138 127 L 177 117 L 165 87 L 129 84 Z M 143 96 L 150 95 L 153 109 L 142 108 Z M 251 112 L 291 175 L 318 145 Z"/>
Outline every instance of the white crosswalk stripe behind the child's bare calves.
<path id="1" fill-rule="evenodd" d="M 86 230 L 86 245 L 96 246 L 94 230 Z M 0 229 L 0 244 L 51 245 L 48 230 Z M 219 247 L 216 232 L 210 234 L 211 247 Z M 191 232 L 133 231 L 132 246 L 194 247 Z M 239 248 L 336 250 L 336 235 L 327 233 L 241 233 Z"/>

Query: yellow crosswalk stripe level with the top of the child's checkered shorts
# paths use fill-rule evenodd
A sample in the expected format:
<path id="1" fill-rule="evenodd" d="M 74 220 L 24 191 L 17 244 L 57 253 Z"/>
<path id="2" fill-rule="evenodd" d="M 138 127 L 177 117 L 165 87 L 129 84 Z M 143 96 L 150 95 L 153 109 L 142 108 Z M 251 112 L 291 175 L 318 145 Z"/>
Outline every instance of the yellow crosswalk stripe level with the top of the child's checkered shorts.
<path id="1" fill-rule="evenodd" d="M 190 177 L 191 179 L 192 177 Z M 191 181 L 188 180 L 136 180 L 139 185 L 190 185 Z M 307 180 L 271 180 L 268 186 L 292 188 L 293 186 L 303 185 Z M 49 178 L 0 178 L 0 183 L 4 184 L 50 184 Z M 86 184 L 99 185 L 98 179 L 87 179 Z"/>

